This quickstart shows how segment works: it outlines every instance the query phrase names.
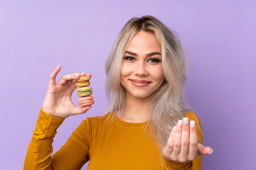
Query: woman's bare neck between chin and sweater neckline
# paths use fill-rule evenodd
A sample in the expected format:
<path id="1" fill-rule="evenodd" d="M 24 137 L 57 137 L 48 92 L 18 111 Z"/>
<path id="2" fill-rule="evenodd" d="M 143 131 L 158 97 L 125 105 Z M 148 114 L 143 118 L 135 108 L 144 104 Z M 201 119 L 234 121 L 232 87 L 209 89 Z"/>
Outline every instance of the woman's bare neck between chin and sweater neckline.
<path id="1" fill-rule="evenodd" d="M 151 96 L 148 98 L 134 98 L 126 95 L 124 110 L 117 112 L 117 117 L 129 123 L 142 123 L 148 120 L 151 106 Z"/>

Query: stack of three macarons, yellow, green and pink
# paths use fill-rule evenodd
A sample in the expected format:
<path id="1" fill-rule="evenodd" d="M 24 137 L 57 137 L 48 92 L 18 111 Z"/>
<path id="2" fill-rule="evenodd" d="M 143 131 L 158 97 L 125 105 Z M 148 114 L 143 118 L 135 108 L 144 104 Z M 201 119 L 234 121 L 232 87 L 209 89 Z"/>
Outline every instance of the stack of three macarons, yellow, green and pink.
<path id="1" fill-rule="evenodd" d="M 90 77 L 80 77 L 75 83 L 75 86 L 78 88 L 78 96 L 81 98 L 78 99 L 78 104 L 82 107 L 90 106 L 94 103 L 92 94 L 92 88 L 90 87 Z"/>

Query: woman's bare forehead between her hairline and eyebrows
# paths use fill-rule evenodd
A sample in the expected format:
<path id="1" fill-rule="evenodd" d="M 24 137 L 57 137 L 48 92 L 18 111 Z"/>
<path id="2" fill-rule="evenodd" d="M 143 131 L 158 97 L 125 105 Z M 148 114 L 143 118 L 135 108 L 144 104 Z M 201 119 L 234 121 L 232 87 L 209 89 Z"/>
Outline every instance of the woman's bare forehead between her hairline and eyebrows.
<path id="1" fill-rule="evenodd" d="M 159 40 L 154 33 L 139 30 L 127 47 L 132 52 L 161 52 Z"/>

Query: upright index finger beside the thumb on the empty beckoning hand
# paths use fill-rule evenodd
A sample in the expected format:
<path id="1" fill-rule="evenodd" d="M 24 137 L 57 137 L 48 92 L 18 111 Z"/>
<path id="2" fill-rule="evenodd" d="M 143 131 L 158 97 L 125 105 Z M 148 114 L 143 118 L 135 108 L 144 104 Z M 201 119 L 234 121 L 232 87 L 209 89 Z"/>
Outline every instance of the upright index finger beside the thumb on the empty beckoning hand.
<path id="1" fill-rule="evenodd" d="M 190 121 L 190 137 L 189 137 L 189 152 L 188 159 L 193 160 L 198 157 L 198 135 L 196 132 L 196 123 L 194 120 Z"/>

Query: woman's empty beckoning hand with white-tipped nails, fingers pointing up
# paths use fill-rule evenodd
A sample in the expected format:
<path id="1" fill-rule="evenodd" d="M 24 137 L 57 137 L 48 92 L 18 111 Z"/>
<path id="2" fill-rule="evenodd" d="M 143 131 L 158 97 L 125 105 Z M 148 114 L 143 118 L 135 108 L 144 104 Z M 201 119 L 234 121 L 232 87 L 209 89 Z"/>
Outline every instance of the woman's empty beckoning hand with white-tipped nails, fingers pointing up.
<path id="1" fill-rule="evenodd" d="M 192 161 L 202 154 L 211 154 L 211 152 L 213 149 L 198 143 L 196 123 L 195 121 L 188 123 L 188 118 L 183 118 L 183 121 L 178 120 L 163 149 L 164 157 L 173 162 Z"/>

